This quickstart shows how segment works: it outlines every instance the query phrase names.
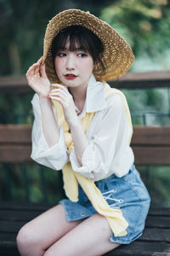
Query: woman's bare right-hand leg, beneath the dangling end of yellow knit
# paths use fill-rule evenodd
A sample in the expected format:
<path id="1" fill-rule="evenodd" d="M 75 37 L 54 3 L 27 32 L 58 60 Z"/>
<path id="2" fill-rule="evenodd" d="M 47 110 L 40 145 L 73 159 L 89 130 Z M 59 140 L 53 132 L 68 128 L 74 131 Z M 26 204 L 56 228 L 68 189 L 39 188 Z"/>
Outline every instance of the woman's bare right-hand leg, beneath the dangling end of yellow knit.
<path id="1" fill-rule="evenodd" d="M 44 256 L 99 256 L 118 247 L 113 243 L 111 228 L 101 215 L 94 214 L 48 248 Z"/>

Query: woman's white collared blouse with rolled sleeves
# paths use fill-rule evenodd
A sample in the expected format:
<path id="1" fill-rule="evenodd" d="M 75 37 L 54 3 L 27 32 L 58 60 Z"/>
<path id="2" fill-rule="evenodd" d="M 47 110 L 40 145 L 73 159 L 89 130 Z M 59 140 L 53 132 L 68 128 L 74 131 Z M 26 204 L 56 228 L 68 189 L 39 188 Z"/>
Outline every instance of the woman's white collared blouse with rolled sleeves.
<path id="1" fill-rule="evenodd" d="M 31 103 L 35 116 L 31 158 L 37 163 L 54 170 L 61 170 L 68 161 L 71 161 L 75 172 L 94 181 L 109 177 L 111 174 L 122 177 L 133 165 L 133 150 L 129 146 L 132 131 L 127 123 L 122 96 L 114 93 L 105 98 L 104 86 L 95 80 L 94 75 L 88 82 L 82 113 L 75 106 L 77 113 L 80 113 L 79 119 L 82 119 L 87 112 L 95 112 L 86 133 L 89 145 L 82 154 L 82 166 L 77 160 L 74 148 L 71 153 L 67 150 L 61 126 L 59 126 L 59 142 L 51 148 L 48 147 L 42 132 L 41 108 L 37 94 Z"/>

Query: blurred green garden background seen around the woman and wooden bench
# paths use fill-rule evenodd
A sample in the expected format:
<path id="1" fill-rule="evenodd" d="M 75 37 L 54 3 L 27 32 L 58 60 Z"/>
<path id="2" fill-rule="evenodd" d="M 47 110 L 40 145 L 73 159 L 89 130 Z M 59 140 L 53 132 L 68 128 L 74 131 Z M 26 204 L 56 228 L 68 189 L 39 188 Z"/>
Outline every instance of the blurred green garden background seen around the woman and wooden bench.
<path id="1" fill-rule="evenodd" d="M 168 0 L 0 0 L 0 76 L 25 75 L 28 67 L 42 55 L 48 20 L 59 11 L 71 8 L 90 11 L 121 33 L 135 55 L 130 72 L 170 70 Z M 122 91 L 127 96 L 133 125 L 170 125 L 169 89 Z M 1 94 L 0 124 L 31 125 L 32 96 L 33 92 Z M 169 168 L 139 166 L 153 205 L 170 206 Z M 30 183 L 27 194 L 26 181 Z M 0 164 L 0 200 L 54 203 L 62 196 L 59 172 L 32 162 Z"/>

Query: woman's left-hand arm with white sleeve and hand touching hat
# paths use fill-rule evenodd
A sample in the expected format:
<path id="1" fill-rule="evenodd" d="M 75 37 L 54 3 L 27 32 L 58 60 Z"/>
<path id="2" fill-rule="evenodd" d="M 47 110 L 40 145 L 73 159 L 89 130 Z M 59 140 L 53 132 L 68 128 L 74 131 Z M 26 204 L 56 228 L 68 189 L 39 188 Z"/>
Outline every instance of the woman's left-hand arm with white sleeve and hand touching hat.
<path id="1" fill-rule="evenodd" d="M 41 67 L 42 58 L 33 64 L 26 73 L 30 87 L 37 93 L 32 100 L 35 116 L 32 129 L 31 158 L 38 163 L 60 170 L 67 162 L 65 138 L 54 116 L 52 102 L 49 100 L 50 82 Z"/>

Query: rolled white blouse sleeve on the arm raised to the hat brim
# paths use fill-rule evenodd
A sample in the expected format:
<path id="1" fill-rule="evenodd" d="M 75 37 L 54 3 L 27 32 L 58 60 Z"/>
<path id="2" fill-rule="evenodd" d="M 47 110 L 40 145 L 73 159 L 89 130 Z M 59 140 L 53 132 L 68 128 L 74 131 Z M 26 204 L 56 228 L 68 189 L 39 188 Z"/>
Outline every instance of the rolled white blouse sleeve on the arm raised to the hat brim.
<path id="1" fill-rule="evenodd" d="M 49 148 L 42 132 L 42 115 L 37 94 L 31 103 L 35 117 L 32 127 L 31 158 L 43 166 L 61 170 L 68 161 L 63 128 L 59 126 L 59 142 Z"/>

